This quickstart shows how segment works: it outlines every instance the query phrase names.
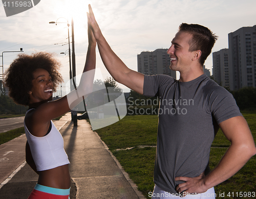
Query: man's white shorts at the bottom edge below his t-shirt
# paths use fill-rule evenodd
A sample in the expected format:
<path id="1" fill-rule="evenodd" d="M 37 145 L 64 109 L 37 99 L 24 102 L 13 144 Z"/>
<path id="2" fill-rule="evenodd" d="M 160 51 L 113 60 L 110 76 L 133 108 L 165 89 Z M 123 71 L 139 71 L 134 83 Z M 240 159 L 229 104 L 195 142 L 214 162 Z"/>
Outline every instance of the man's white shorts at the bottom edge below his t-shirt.
<path id="1" fill-rule="evenodd" d="M 155 185 L 153 193 L 149 193 L 148 196 L 152 197 L 152 199 L 169 199 L 169 198 L 194 198 L 194 199 L 204 199 L 204 198 L 209 198 L 209 199 L 215 199 L 215 190 L 214 187 L 208 189 L 204 193 L 198 193 L 198 194 L 188 194 L 184 197 L 180 197 L 178 194 L 172 194 L 168 193 L 164 190 L 162 190 L 160 187 Z"/>

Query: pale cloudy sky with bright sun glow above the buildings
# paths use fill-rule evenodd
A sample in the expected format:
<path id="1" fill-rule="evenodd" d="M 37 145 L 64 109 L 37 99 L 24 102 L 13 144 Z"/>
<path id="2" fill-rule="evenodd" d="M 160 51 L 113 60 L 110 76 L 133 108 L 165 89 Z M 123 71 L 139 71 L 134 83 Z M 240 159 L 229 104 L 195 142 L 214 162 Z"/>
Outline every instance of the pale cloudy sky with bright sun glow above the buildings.
<path id="1" fill-rule="evenodd" d="M 63 79 L 68 80 L 67 20 L 71 24 L 73 17 L 76 74 L 82 73 L 88 47 L 88 4 L 91 4 L 99 27 L 113 51 L 135 71 L 137 54 L 168 49 L 181 23 L 200 24 L 218 35 L 212 52 L 228 48 L 228 33 L 256 25 L 255 0 L 41 0 L 35 7 L 9 17 L 0 2 L 0 54 L 19 51 L 20 48 L 27 54 L 40 51 L 55 53 L 62 63 L 60 73 Z M 57 21 L 57 26 L 49 24 L 50 21 Z M 71 36 L 71 26 L 69 29 Z M 61 52 L 66 52 L 66 55 Z M 105 70 L 98 49 L 96 52 L 96 68 L 106 79 L 111 75 Z M 4 53 L 4 71 L 17 54 Z M 205 66 L 211 71 L 212 55 L 205 61 Z M 124 92 L 130 92 L 122 84 L 119 86 Z M 55 96 L 61 94 L 57 91 Z"/>

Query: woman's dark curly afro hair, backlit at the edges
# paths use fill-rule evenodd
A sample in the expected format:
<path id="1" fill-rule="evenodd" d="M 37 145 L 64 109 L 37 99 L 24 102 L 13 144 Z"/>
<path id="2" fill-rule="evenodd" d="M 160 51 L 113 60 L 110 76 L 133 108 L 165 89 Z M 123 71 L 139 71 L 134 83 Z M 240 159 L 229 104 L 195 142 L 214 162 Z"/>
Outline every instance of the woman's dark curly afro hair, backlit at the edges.
<path id="1" fill-rule="evenodd" d="M 57 85 L 63 81 L 58 72 L 60 65 L 53 53 L 19 54 L 5 72 L 5 86 L 9 89 L 9 96 L 17 104 L 29 105 L 28 93 L 33 86 L 33 72 L 39 68 L 48 71 L 52 78 L 53 91 L 56 91 Z"/>

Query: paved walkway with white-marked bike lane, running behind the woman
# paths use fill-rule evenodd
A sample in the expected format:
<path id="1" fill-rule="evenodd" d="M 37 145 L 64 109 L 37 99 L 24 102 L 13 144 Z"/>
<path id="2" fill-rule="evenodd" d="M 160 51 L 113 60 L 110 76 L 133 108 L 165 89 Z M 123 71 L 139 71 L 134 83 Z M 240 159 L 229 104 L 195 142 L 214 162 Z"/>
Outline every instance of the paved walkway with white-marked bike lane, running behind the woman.
<path id="1" fill-rule="evenodd" d="M 86 120 L 74 127 L 70 113 L 54 121 L 70 160 L 70 198 L 145 198 Z M 0 198 L 27 199 L 37 174 L 25 162 L 26 136 L 0 145 Z"/>

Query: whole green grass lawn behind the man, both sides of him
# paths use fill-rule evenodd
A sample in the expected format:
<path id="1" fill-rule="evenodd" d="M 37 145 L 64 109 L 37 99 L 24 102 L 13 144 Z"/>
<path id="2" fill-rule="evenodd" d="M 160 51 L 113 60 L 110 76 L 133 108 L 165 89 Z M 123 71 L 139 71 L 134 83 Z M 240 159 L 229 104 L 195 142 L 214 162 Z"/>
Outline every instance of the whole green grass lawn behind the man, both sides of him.
<path id="1" fill-rule="evenodd" d="M 254 141 L 256 139 L 256 114 L 243 112 L 251 129 Z M 157 140 L 158 117 L 156 115 L 126 116 L 121 121 L 110 126 L 97 129 L 96 132 L 113 152 L 124 170 L 136 183 L 146 198 L 153 191 L 153 172 L 156 148 L 137 146 L 155 146 Z M 219 130 L 210 152 L 210 168 L 219 163 L 221 157 L 230 145 L 222 131 Z M 116 150 L 135 147 L 130 150 Z M 239 193 L 256 192 L 256 157 L 252 157 L 246 165 L 232 178 L 215 187 L 217 198 L 241 198 Z M 233 193 L 232 193 L 233 192 Z M 238 197 L 236 194 L 238 192 Z M 225 197 L 223 196 L 225 193 Z M 230 195 L 228 196 L 228 193 Z M 222 195 L 220 195 L 222 194 Z M 256 193 L 255 193 L 256 194 Z M 256 197 L 256 195 L 255 195 Z M 252 197 L 242 197 L 252 198 Z"/>

